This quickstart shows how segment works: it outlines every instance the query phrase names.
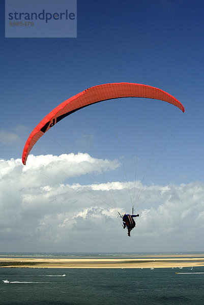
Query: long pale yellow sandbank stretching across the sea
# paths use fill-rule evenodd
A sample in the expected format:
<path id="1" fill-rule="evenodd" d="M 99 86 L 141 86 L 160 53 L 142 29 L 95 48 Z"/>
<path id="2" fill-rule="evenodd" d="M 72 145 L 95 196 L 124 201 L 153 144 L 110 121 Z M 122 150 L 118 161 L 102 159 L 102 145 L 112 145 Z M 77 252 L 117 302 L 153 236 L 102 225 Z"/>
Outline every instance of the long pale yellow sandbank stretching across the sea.
<path id="1" fill-rule="evenodd" d="M 178 268 L 204 266 L 204 255 L 162 255 L 139 258 L 11 258 L 0 257 L 0 267 L 20 268 Z"/>

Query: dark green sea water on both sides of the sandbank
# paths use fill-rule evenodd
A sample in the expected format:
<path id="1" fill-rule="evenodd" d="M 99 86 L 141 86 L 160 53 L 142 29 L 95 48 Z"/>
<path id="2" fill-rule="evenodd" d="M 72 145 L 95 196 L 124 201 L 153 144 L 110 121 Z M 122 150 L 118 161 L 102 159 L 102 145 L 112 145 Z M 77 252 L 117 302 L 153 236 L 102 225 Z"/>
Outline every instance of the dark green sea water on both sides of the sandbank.
<path id="1" fill-rule="evenodd" d="M 186 253 L 174 254 L 186 256 Z M 162 254 L 0 253 L 0 262 L 1 257 L 139 258 L 146 255 L 161 257 Z M 172 253 L 168 255 L 171 257 Z M 155 269 L 4 267 L 0 268 L 0 304 L 203 305 L 204 266 Z"/>

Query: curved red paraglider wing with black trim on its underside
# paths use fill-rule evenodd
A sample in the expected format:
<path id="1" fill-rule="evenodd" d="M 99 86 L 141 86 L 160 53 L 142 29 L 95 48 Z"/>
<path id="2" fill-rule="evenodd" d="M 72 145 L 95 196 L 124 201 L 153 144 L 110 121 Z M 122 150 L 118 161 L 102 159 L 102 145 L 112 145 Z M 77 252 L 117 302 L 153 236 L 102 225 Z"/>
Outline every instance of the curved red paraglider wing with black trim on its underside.
<path id="1" fill-rule="evenodd" d="M 173 104 L 184 112 L 183 105 L 176 98 L 165 91 L 152 86 L 135 83 L 110 83 L 94 86 L 66 100 L 40 121 L 25 143 L 22 154 L 23 164 L 25 165 L 27 156 L 39 138 L 64 117 L 94 103 L 127 97 L 165 101 Z"/>

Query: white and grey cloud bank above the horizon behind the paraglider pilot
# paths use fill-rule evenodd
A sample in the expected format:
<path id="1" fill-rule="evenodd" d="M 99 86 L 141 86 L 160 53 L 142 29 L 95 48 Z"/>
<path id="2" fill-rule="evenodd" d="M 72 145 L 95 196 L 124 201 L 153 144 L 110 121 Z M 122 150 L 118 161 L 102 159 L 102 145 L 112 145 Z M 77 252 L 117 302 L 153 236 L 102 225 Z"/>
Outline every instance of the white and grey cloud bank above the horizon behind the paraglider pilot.
<path id="1" fill-rule="evenodd" d="M 129 238 L 115 209 L 131 212 L 141 182 L 93 181 L 119 167 L 81 153 L 0 160 L 0 251 L 202 251 L 203 182 L 142 186 Z"/>

